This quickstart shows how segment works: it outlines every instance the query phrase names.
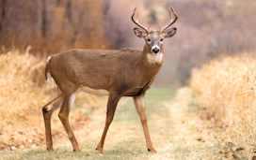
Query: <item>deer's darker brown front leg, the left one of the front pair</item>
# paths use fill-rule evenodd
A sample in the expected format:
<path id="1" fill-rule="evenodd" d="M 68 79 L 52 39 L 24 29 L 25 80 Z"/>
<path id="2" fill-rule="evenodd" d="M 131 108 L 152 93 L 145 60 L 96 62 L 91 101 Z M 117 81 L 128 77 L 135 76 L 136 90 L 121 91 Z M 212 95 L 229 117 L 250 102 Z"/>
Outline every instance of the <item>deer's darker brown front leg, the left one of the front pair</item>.
<path id="1" fill-rule="evenodd" d="M 104 124 L 104 132 L 103 136 L 98 143 L 98 146 L 96 150 L 98 150 L 99 153 L 104 153 L 104 138 L 107 133 L 109 125 L 112 123 L 112 120 L 114 118 L 115 111 L 117 109 L 117 105 L 120 100 L 120 95 L 118 94 L 109 94 L 108 96 L 108 101 L 107 101 L 107 110 L 106 110 L 106 119 L 105 119 L 105 124 Z"/>

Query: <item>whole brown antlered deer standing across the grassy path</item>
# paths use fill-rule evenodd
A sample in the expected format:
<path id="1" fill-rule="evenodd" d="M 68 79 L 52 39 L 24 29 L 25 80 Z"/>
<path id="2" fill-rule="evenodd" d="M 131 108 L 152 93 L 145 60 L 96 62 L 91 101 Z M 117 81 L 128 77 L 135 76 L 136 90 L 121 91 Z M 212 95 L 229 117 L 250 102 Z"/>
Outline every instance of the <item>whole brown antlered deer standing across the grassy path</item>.
<path id="1" fill-rule="evenodd" d="M 104 153 L 104 139 L 122 96 L 133 97 L 148 151 L 156 153 L 149 133 L 144 95 L 151 88 L 155 75 L 163 65 L 164 39 L 174 36 L 177 30 L 175 27 L 170 28 L 178 19 L 173 7 L 168 7 L 168 14 L 170 21 L 166 26 L 162 28 L 159 25 L 159 30 L 151 30 L 138 22 L 138 13 L 136 15 L 136 8 L 134 9 L 132 21 L 137 25 L 134 33 L 145 40 L 143 51 L 126 48 L 72 49 L 48 57 L 45 77 L 50 85 L 55 81 L 58 91 L 56 97 L 42 107 L 48 151 L 54 150 L 51 117 L 54 110 L 60 108 L 58 117 L 72 142 L 72 149 L 74 152 L 81 152 L 69 123 L 69 114 L 76 95 L 84 91 L 93 95 L 108 95 L 104 131 L 96 147 L 99 153 Z"/>

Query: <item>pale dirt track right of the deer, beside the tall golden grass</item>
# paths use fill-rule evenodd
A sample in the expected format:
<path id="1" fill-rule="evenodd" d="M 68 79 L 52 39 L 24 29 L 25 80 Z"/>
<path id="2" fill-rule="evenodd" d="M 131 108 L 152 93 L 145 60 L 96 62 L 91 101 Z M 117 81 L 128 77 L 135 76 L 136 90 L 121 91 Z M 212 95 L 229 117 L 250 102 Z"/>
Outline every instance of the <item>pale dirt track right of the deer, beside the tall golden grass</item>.
<path id="1" fill-rule="evenodd" d="M 216 133 L 200 119 L 193 101 L 191 91 L 183 88 L 174 99 L 164 103 L 172 124 L 167 131 L 173 136 L 167 138 L 160 153 L 153 154 L 151 159 L 216 159 Z"/>

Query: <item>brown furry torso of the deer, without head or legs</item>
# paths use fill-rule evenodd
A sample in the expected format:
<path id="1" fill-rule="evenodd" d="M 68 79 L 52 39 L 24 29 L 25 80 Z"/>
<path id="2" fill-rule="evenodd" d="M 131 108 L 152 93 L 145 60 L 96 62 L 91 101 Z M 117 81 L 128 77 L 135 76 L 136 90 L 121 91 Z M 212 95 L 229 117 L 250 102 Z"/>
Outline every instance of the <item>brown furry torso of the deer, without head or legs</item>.
<path id="1" fill-rule="evenodd" d="M 118 92 L 121 96 L 137 95 L 162 65 L 149 64 L 145 56 L 146 53 L 131 49 L 74 49 L 53 55 L 46 67 L 62 92 L 66 90 L 67 83 L 70 83 Z"/>

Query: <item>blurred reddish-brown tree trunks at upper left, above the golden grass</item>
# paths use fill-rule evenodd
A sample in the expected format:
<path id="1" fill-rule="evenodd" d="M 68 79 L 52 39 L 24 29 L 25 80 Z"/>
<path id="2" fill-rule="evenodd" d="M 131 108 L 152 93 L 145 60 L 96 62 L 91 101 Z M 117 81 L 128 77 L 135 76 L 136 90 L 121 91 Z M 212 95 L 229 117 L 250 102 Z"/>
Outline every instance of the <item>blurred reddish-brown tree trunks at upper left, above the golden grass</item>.
<path id="1" fill-rule="evenodd" d="M 1 0 L 0 43 L 56 52 L 105 48 L 103 0 Z"/>

